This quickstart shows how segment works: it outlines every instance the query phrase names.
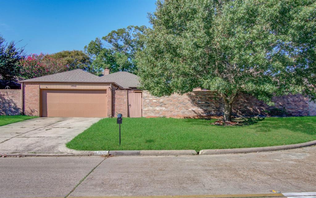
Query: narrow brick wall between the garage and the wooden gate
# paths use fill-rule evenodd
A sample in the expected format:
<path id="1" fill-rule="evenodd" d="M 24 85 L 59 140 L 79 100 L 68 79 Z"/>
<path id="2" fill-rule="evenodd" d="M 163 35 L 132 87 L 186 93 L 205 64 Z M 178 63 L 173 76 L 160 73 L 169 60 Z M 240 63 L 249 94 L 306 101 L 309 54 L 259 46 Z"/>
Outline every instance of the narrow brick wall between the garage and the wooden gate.
<path id="1" fill-rule="evenodd" d="M 116 117 L 117 112 L 121 113 L 123 117 L 128 115 L 127 106 L 127 90 L 112 90 L 112 115 Z"/>

